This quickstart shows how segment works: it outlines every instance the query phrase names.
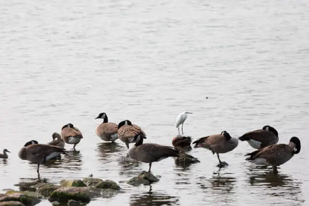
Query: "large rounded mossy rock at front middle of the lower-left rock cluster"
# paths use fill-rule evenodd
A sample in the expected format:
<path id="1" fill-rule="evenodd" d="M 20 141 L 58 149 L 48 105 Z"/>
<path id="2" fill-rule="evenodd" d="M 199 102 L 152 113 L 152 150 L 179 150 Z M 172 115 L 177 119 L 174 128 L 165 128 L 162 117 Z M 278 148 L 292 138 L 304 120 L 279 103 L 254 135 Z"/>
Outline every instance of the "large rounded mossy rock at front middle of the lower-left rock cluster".
<path id="1" fill-rule="evenodd" d="M 70 199 L 87 203 L 90 201 L 90 194 L 85 187 L 62 187 L 55 190 L 48 198 L 50 202 L 60 203 L 66 203 Z"/>

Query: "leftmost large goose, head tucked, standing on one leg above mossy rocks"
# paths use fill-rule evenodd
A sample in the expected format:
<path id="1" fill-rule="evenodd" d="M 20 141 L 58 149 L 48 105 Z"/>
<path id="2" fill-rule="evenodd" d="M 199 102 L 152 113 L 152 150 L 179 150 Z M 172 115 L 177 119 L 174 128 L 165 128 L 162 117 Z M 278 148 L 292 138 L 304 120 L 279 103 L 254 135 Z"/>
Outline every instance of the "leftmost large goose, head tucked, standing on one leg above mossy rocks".
<path id="1" fill-rule="evenodd" d="M 40 164 L 44 164 L 47 160 L 57 157 L 61 153 L 66 153 L 64 148 L 52 146 L 48 144 L 39 144 L 36 140 L 26 142 L 19 150 L 18 157 L 22 160 L 28 160 L 37 163 L 37 174 L 39 174 Z"/>

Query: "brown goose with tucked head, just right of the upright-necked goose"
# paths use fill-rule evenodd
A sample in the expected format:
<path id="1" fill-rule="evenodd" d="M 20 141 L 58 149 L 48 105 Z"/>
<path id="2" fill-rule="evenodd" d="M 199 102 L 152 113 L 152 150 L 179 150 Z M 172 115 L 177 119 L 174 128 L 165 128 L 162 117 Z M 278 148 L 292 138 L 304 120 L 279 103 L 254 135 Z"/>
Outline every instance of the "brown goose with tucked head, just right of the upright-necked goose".
<path id="1" fill-rule="evenodd" d="M 136 134 L 142 134 L 143 138 L 146 138 L 145 132 L 139 126 L 132 124 L 130 120 L 124 120 L 118 124 L 118 137 L 128 148 Z"/>

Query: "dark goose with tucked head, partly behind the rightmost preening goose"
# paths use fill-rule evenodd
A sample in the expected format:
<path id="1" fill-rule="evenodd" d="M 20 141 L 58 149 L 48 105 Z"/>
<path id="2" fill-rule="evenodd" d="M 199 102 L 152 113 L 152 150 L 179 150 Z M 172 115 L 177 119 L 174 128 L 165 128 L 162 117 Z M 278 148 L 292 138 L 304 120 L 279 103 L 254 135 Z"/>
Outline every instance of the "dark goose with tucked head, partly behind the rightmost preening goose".
<path id="1" fill-rule="evenodd" d="M 277 130 L 269 125 L 264 126 L 263 129 L 247 132 L 238 139 L 247 141 L 254 149 L 262 149 L 277 144 L 279 140 Z"/>

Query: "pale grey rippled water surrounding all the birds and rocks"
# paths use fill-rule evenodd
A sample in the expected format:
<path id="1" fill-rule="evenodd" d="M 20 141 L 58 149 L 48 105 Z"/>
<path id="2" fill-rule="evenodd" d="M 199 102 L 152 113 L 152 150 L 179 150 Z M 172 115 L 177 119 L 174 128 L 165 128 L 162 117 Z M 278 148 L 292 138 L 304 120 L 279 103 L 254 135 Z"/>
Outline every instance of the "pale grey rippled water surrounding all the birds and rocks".
<path id="1" fill-rule="evenodd" d="M 125 145 L 94 133 L 98 113 L 171 145 L 187 110 L 193 139 L 269 124 L 280 143 L 299 137 L 301 151 L 272 176 L 244 161 L 253 150 L 246 142 L 221 155 L 230 164 L 221 170 L 210 151 L 193 149 L 199 164 L 154 163 L 162 178 L 150 192 L 120 183 L 125 193 L 88 205 L 308 205 L 308 65 L 307 0 L 1 1 L 0 149 L 12 153 L 0 161 L 0 189 L 35 180 L 36 165 L 18 150 L 70 122 L 84 139 L 76 153 L 42 166 L 41 179 L 129 180 L 148 165 L 125 168 Z"/>

